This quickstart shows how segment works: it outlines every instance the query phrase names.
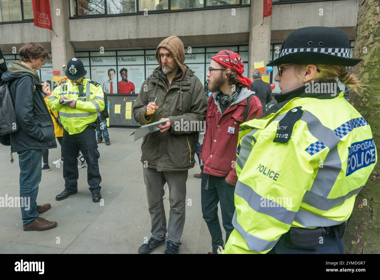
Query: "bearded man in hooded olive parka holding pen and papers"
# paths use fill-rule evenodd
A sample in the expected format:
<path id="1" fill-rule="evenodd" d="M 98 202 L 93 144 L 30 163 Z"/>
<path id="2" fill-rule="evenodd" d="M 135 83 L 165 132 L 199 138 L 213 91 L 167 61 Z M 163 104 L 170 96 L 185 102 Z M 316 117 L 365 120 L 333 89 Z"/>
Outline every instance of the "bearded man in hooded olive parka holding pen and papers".
<path id="1" fill-rule="evenodd" d="M 141 245 L 139 253 L 147 254 L 163 245 L 168 232 L 165 253 L 177 254 L 185 224 L 187 173 L 195 165 L 195 147 L 199 128 L 206 119 L 207 99 L 201 81 L 184 65 L 184 45 L 178 37 L 163 40 L 157 47 L 156 59 L 160 66 L 142 84 L 133 107 L 133 116 L 140 124 L 169 119 L 165 125 L 157 126 L 159 131 L 142 140 L 141 162 L 152 237 Z M 189 124 L 199 124 L 198 131 L 191 125 L 189 128 Z M 168 229 L 163 205 L 166 182 L 170 202 Z"/>

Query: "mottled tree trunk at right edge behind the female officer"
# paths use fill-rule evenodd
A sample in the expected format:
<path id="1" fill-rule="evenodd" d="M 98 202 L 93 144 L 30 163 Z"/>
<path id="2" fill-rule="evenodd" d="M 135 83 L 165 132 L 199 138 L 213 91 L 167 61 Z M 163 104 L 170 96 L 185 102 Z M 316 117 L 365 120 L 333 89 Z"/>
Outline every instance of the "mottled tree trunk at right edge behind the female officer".
<path id="1" fill-rule="evenodd" d="M 380 15 L 379 0 L 359 0 L 351 69 L 366 87 L 350 92 L 350 103 L 369 123 L 377 154 L 380 149 Z M 380 253 L 379 159 L 366 185 L 356 196 L 354 213 L 343 237 L 345 253 Z"/>

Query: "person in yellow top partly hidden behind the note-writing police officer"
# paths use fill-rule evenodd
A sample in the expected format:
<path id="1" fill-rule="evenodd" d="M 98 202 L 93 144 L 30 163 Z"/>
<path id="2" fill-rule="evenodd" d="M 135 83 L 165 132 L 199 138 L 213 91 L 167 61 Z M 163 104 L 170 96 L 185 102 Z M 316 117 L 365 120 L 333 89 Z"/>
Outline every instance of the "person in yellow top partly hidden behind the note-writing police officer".
<path id="1" fill-rule="evenodd" d="M 55 138 L 57 138 L 59 145 L 61 145 L 61 157 L 59 157 L 56 161 L 53 161 L 53 164 L 54 165 L 58 164 L 60 166 L 63 164 L 63 152 L 62 152 L 63 126 L 59 125 L 60 121 L 59 121 L 58 112 L 51 110 L 49 107 L 49 104 L 47 103 L 47 99 L 51 95 L 51 86 L 53 85 L 53 82 L 48 80 L 46 82 L 42 82 L 41 85 L 42 85 L 42 93 L 44 95 L 46 94 L 44 97 L 44 100 L 45 100 L 45 103 L 47 106 L 47 110 L 49 110 L 51 119 L 52 119 L 53 124 L 54 124 Z M 49 150 L 48 149 L 42 150 L 42 160 L 43 161 L 42 161 L 41 170 L 42 171 L 49 171 L 50 167 L 49 167 Z"/>

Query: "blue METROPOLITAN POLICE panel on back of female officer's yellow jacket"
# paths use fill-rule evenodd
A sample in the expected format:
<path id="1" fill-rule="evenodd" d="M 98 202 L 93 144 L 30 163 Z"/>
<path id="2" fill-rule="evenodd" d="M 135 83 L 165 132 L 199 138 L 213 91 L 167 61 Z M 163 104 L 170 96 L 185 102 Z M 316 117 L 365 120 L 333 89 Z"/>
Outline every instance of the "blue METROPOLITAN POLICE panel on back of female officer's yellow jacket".
<path id="1" fill-rule="evenodd" d="M 351 147 L 348 148 L 346 176 L 354 173 L 356 170 L 375 163 L 375 161 L 375 143 L 372 138 L 352 143 Z"/>

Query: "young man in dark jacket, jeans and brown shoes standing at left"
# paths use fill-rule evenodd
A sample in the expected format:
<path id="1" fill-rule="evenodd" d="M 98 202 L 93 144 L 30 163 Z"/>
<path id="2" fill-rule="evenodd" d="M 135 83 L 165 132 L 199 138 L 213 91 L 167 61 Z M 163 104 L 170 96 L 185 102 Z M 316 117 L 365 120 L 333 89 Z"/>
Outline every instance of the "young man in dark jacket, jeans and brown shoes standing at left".
<path id="1" fill-rule="evenodd" d="M 40 70 L 45 59 L 50 59 L 44 47 L 28 43 L 19 49 L 20 61 L 3 73 L 12 97 L 16 119 L 21 127 L 10 134 L 11 152 L 19 155 L 20 201 L 24 231 L 46 231 L 57 226 L 57 222 L 38 218 L 51 205 L 37 205 L 38 185 L 41 181 L 42 150 L 57 148 L 54 126 L 42 97 Z"/>

